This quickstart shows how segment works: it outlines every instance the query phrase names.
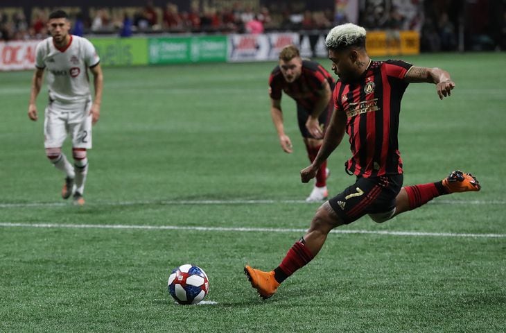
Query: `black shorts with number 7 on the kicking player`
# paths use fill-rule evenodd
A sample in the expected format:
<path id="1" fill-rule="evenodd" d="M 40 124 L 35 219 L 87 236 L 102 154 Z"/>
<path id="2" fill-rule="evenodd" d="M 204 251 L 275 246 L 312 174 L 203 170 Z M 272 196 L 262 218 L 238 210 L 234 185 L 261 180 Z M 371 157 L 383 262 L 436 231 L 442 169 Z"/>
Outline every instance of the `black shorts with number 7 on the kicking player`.
<path id="1" fill-rule="evenodd" d="M 354 222 L 365 214 L 390 212 L 401 191 L 403 175 L 357 178 L 357 182 L 329 199 L 334 212 L 344 224 Z"/>

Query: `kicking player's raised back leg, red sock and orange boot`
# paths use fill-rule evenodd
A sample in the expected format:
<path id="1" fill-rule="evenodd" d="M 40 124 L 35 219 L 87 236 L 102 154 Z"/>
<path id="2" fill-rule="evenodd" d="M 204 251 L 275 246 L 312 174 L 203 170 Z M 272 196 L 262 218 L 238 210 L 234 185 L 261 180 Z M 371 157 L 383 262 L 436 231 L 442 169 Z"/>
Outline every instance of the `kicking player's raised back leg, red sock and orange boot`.
<path id="1" fill-rule="evenodd" d="M 480 189 L 480 182 L 471 173 L 456 170 L 438 182 L 403 187 L 396 197 L 395 215 L 414 210 L 438 196 L 456 192 L 480 191 Z"/>

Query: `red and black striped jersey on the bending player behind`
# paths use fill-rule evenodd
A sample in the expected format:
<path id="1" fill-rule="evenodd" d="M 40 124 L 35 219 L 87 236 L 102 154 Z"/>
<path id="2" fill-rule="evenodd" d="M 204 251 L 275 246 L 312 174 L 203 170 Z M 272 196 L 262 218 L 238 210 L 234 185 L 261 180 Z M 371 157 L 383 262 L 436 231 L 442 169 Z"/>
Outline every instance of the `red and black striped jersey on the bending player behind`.
<path id="1" fill-rule="evenodd" d="M 269 95 L 271 99 L 281 99 L 281 92 L 302 105 L 306 110 L 313 110 L 315 103 L 320 98 L 318 91 L 323 89 L 327 81 L 333 89 L 335 80 L 322 65 L 310 60 L 302 61 L 302 73 L 293 83 L 286 82 L 279 65 L 272 70 L 269 78 Z"/>

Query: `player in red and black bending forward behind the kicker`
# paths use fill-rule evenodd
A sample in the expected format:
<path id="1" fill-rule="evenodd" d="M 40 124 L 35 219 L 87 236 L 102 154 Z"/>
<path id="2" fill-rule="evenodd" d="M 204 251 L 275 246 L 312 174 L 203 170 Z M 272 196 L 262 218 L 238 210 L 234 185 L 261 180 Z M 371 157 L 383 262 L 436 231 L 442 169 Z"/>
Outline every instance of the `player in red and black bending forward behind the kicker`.
<path id="1" fill-rule="evenodd" d="M 277 130 L 279 143 L 286 153 L 292 153 L 292 142 L 283 128 L 281 92 L 297 103 L 299 130 L 306 144 L 311 162 L 322 146 L 323 133 L 332 114 L 332 89 L 335 81 L 331 74 L 317 62 L 302 60 L 295 45 L 285 46 L 279 53 L 277 65 L 269 78 L 270 114 Z M 326 161 L 316 174 L 315 187 L 306 198 L 308 202 L 322 201 L 328 196 Z"/>

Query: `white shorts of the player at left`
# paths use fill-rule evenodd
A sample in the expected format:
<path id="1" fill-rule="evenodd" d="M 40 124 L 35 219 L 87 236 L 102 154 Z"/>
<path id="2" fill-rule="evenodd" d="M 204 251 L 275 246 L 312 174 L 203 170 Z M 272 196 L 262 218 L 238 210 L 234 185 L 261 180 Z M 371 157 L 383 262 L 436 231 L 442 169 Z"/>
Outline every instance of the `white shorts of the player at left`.
<path id="1" fill-rule="evenodd" d="M 67 105 L 66 105 L 67 106 Z M 91 101 L 61 108 L 55 103 L 44 114 L 44 148 L 60 148 L 70 134 L 73 148 L 91 148 Z"/>

